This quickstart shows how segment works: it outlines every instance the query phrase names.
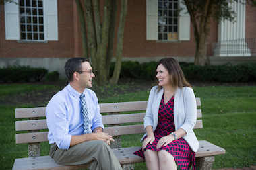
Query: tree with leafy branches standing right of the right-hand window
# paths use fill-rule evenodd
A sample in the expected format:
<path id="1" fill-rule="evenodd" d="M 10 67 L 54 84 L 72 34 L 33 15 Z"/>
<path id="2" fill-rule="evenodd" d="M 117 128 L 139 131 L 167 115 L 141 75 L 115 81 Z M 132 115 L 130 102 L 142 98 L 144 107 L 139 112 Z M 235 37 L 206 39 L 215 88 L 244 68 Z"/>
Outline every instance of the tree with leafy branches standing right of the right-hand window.
<path id="1" fill-rule="evenodd" d="M 195 65 L 205 65 L 207 42 L 210 34 L 211 20 L 234 20 L 236 13 L 228 3 L 240 0 L 184 0 L 191 17 L 195 36 Z M 254 0 L 248 0 L 249 5 L 256 5 Z M 197 22 L 199 21 L 199 22 Z"/>

